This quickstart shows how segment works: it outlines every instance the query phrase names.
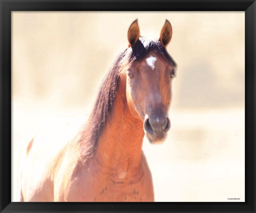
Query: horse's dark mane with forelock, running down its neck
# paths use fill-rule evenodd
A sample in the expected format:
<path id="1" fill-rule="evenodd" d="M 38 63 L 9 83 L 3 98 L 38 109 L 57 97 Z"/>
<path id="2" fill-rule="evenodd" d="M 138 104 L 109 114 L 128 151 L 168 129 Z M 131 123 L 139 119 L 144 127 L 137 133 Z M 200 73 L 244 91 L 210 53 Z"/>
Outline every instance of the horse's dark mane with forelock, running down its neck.
<path id="1" fill-rule="evenodd" d="M 98 97 L 95 101 L 93 110 L 90 114 L 89 120 L 86 126 L 82 130 L 82 134 L 79 137 L 79 141 L 86 140 L 90 143 L 89 149 L 85 150 L 85 155 L 92 154 L 97 149 L 99 138 L 105 129 L 109 115 L 113 110 L 115 104 L 115 97 L 119 85 L 122 68 L 126 65 L 140 61 L 151 50 L 154 50 L 158 54 L 162 55 L 167 61 L 176 65 L 171 56 L 167 53 L 166 49 L 161 45 L 161 42 L 157 40 L 151 40 L 144 37 L 140 37 L 137 43 L 127 48 L 118 55 L 113 67 L 110 69 L 105 80 L 103 81 Z"/>

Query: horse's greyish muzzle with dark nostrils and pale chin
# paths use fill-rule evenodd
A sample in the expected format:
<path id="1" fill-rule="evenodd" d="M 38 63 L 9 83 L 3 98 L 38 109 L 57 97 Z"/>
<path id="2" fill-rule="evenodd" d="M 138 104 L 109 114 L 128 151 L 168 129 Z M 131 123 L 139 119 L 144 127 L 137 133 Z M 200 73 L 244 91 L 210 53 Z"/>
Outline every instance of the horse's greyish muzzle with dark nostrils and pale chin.
<path id="1" fill-rule="evenodd" d="M 162 116 L 145 116 L 144 131 L 150 143 L 162 143 L 170 130 L 170 118 L 166 115 Z"/>

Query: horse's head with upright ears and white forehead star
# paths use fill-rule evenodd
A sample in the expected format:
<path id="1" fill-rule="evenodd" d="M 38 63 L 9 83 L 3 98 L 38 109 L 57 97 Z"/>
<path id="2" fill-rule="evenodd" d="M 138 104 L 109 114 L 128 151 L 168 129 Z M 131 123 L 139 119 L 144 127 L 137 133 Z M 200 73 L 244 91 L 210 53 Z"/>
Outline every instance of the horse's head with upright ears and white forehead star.
<path id="1" fill-rule="evenodd" d="M 128 30 L 131 57 L 126 71 L 126 98 L 133 117 L 143 121 L 150 143 L 163 142 L 171 127 L 168 111 L 175 63 L 165 49 L 171 37 L 172 27 L 167 20 L 158 40 L 140 37 L 137 20 Z"/>

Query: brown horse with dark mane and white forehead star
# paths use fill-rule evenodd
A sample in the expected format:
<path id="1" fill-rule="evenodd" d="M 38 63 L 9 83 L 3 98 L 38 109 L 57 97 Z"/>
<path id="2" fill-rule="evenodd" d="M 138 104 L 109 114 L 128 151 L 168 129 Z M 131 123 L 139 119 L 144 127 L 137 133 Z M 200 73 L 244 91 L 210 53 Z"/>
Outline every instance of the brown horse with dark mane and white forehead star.
<path id="1" fill-rule="evenodd" d="M 100 88 L 89 120 L 72 140 L 37 135 L 27 145 L 19 201 L 154 201 L 142 152 L 144 135 L 159 143 L 170 129 L 175 63 L 166 52 L 169 21 L 159 39 L 140 37 L 135 20 L 121 53 Z"/>

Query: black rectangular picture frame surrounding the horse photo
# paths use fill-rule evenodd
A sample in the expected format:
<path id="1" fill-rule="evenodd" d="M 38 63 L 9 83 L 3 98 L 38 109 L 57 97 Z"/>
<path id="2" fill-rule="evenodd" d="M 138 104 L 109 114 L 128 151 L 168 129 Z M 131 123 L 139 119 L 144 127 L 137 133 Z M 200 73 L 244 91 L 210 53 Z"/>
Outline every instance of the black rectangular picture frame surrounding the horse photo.
<path id="1" fill-rule="evenodd" d="M 1 212 L 256 212 L 255 0 L 0 0 L 0 211 Z M 11 202 L 12 11 L 245 11 L 245 202 Z"/>

